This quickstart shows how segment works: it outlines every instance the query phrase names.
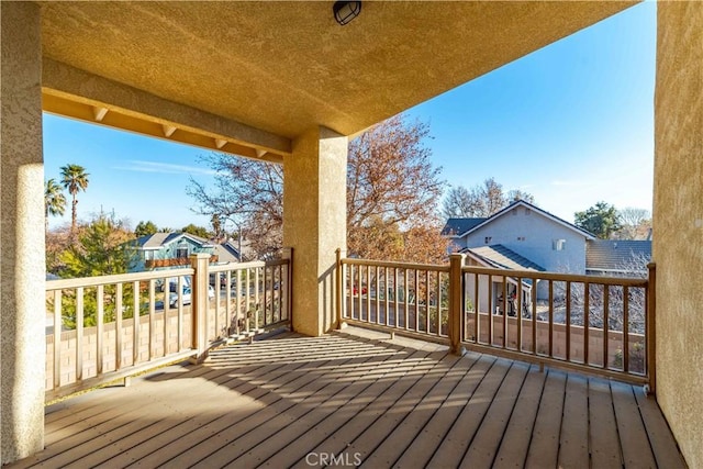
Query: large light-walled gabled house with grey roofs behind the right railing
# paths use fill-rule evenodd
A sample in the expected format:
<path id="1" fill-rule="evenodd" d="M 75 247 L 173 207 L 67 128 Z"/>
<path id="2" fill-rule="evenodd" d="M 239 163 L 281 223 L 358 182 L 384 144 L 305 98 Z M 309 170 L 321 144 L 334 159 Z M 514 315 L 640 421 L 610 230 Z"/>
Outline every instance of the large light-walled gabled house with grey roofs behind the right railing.
<path id="1" fill-rule="evenodd" d="M 467 255 L 469 265 L 498 269 L 636 277 L 646 273 L 651 259 L 651 239 L 598 239 L 524 200 L 487 219 L 449 219 L 442 234 L 451 239 L 451 250 Z M 482 284 L 487 281 L 479 278 Z M 515 278 L 507 277 L 505 287 L 502 278 L 494 278 L 493 304 L 499 304 L 504 288 L 514 299 L 516 286 Z M 529 303 L 532 287 L 523 279 L 523 304 Z M 469 294 L 473 288 L 469 284 Z M 537 298 L 548 298 L 546 283 L 537 286 Z M 486 310 L 488 299 L 479 301 Z"/>

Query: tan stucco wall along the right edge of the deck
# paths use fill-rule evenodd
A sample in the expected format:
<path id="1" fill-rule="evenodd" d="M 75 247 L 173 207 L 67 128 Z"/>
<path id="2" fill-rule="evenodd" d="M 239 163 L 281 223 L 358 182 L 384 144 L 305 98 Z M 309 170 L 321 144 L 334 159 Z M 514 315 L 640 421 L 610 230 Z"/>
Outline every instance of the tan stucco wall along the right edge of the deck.
<path id="1" fill-rule="evenodd" d="M 659 2 L 652 258 L 657 399 L 703 467 L 703 4 Z"/>

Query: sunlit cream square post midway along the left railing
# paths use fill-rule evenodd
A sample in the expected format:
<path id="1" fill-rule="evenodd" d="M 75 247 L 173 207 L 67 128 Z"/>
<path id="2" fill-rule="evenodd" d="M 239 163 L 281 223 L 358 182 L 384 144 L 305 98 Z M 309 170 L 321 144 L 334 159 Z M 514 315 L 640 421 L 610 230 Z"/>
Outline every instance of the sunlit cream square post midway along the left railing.
<path id="1" fill-rule="evenodd" d="M 200 364 L 208 356 L 208 267 L 210 254 L 191 254 L 190 264 L 194 270 L 193 279 L 190 282 L 190 321 L 192 348 L 196 351 L 191 361 Z"/>

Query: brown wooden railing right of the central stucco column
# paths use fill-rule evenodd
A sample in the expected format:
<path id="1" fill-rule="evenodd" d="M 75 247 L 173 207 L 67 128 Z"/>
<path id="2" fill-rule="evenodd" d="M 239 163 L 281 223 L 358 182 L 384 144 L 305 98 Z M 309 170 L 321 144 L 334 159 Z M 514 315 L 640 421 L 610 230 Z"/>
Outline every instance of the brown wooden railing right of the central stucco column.
<path id="1" fill-rule="evenodd" d="M 648 278 L 578 276 L 338 257 L 338 322 L 649 386 L 655 266 Z"/>

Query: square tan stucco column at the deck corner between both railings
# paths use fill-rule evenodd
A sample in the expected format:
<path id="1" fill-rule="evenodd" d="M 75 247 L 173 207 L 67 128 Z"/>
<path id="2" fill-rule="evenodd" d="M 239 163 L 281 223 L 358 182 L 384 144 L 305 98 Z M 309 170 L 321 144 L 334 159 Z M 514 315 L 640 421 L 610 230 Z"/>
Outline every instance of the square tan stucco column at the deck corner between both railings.
<path id="1" fill-rule="evenodd" d="M 293 248 L 293 330 L 317 336 L 335 321 L 337 248 L 346 249 L 347 137 L 328 129 L 293 142 L 283 163 L 283 245 Z"/>

